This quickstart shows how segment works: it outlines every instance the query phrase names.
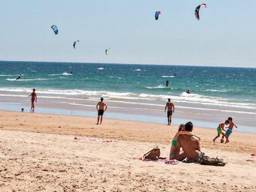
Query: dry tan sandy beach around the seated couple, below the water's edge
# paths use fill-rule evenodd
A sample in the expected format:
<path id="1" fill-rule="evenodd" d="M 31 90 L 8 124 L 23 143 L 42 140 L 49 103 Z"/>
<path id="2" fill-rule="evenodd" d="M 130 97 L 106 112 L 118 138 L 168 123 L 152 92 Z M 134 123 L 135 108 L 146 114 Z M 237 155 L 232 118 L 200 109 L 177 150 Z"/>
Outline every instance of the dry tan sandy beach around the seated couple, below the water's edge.
<path id="1" fill-rule="evenodd" d="M 158 145 L 168 157 L 176 126 L 0 111 L 0 191 L 255 191 L 256 135 L 236 130 L 230 143 L 194 128 L 201 149 L 224 167 L 136 160 Z M 184 123 L 184 122 L 181 122 Z M 118 142 L 75 141 L 74 137 Z"/>

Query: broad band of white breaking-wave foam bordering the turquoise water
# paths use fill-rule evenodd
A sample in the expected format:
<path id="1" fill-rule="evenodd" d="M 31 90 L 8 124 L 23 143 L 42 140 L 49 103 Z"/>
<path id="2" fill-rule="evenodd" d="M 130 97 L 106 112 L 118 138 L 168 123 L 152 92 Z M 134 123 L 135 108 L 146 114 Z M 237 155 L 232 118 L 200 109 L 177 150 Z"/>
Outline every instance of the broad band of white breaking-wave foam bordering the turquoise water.
<path id="1" fill-rule="evenodd" d="M 4 92 L 27 92 L 30 93 L 29 88 L 0 88 L 0 91 Z M 234 102 L 229 99 L 224 99 L 222 97 L 214 96 L 202 96 L 198 94 L 187 94 L 182 93 L 179 96 L 172 95 L 152 95 L 152 94 L 134 94 L 134 93 L 118 93 L 111 91 L 86 91 L 86 90 L 53 90 L 53 89 L 38 89 L 39 94 L 52 94 L 52 95 L 65 95 L 65 96 L 103 96 L 111 100 L 116 99 L 129 99 L 129 100 L 163 100 L 171 98 L 177 103 L 191 103 L 191 104 L 201 104 L 207 106 L 221 106 L 221 107 L 236 107 L 236 108 L 246 108 L 246 109 L 256 109 L 255 103 L 248 102 Z M 209 107 L 210 108 L 210 107 Z"/>

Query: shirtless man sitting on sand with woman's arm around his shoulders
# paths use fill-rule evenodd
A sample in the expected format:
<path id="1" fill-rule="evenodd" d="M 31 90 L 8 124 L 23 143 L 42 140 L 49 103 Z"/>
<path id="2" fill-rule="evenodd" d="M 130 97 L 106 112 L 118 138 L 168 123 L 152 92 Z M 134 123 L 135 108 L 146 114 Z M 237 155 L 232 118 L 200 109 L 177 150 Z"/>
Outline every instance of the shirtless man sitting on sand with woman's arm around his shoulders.
<path id="1" fill-rule="evenodd" d="M 186 123 L 185 130 L 192 132 L 193 124 L 191 122 Z M 181 147 L 183 151 L 180 151 Z M 198 137 L 185 134 L 178 136 L 175 160 L 182 161 L 187 158 L 187 162 L 195 162 L 196 159 L 202 157 L 203 153 L 200 149 L 200 139 Z"/>

